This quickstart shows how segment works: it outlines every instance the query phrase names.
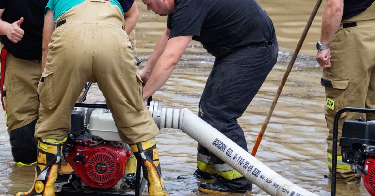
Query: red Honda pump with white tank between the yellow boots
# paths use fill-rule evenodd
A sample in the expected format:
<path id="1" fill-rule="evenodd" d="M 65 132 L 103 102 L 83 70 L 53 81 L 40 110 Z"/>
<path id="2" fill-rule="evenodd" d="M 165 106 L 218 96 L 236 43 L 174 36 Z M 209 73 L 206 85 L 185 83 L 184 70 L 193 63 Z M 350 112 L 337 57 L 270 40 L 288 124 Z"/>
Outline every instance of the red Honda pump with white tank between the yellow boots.
<path id="1" fill-rule="evenodd" d="M 54 186 L 57 195 L 139 196 L 147 184 L 139 164 L 132 162 L 126 170 L 134 155 L 129 144 L 121 141 L 105 102 L 76 103 L 62 155 L 73 171 L 64 169 L 58 175 Z"/>

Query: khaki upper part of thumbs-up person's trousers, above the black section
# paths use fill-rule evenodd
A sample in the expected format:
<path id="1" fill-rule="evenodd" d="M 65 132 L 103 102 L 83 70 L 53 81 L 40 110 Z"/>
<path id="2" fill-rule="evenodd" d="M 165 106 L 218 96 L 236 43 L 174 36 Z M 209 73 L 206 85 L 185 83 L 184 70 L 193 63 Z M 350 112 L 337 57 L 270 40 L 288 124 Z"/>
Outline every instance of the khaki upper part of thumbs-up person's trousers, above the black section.
<path id="1" fill-rule="evenodd" d="M 0 48 L 3 48 L 0 43 Z M 4 105 L 8 133 L 23 127 L 38 117 L 37 87 L 41 74 L 39 60 L 23 60 L 6 55 Z"/>

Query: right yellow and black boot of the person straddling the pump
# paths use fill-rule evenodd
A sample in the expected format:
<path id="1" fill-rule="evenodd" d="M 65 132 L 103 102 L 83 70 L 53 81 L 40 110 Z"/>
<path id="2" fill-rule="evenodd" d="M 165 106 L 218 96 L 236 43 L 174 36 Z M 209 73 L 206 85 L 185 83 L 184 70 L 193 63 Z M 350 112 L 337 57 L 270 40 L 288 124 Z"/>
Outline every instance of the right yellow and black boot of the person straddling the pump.
<path id="1" fill-rule="evenodd" d="M 148 180 L 148 195 L 169 196 L 161 175 L 155 139 L 130 145 L 130 148 L 142 166 L 144 177 Z"/>

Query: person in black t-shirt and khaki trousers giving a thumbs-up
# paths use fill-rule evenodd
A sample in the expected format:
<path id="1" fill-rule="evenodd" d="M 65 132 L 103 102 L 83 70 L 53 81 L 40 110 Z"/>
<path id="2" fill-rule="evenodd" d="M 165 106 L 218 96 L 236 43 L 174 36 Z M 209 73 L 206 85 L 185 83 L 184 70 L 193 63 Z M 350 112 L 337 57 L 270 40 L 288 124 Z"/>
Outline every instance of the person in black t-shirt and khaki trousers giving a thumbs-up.
<path id="1" fill-rule="evenodd" d="M 36 162 L 37 87 L 42 59 L 44 9 L 48 0 L 0 0 L 0 92 L 14 161 Z M 22 6 L 21 6 L 22 5 Z"/>

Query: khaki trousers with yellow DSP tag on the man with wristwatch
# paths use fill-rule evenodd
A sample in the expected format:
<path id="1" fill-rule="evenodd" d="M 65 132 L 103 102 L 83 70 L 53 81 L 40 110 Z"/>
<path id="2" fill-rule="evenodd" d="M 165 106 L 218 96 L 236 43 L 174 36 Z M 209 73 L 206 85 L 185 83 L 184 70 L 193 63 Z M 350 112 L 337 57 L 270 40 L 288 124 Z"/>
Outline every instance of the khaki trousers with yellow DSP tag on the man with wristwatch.
<path id="1" fill-rule="evenodd" d="M 325 116 L 329 128 L 328 164 L 332 168 L 333 120 L 344 107 L 375 108 L 375 3 L 367 10 L 341 22 L 330 44 L 331 67 L 324 68 L 321 84 L 325 86 L 327 106 Z M 356 26 L 343 28 L 342 24 L 356 22 Z M 345 112 L 339 121 L 339 135 L 344 121 L 356 118 L 375 120 L 374 114 Z M 338 140 L 340 141 L 340 140 Z M 342 162 L 338 142 L 337 179 L 346 183 L 359 183 L 360 176 Z"/>

